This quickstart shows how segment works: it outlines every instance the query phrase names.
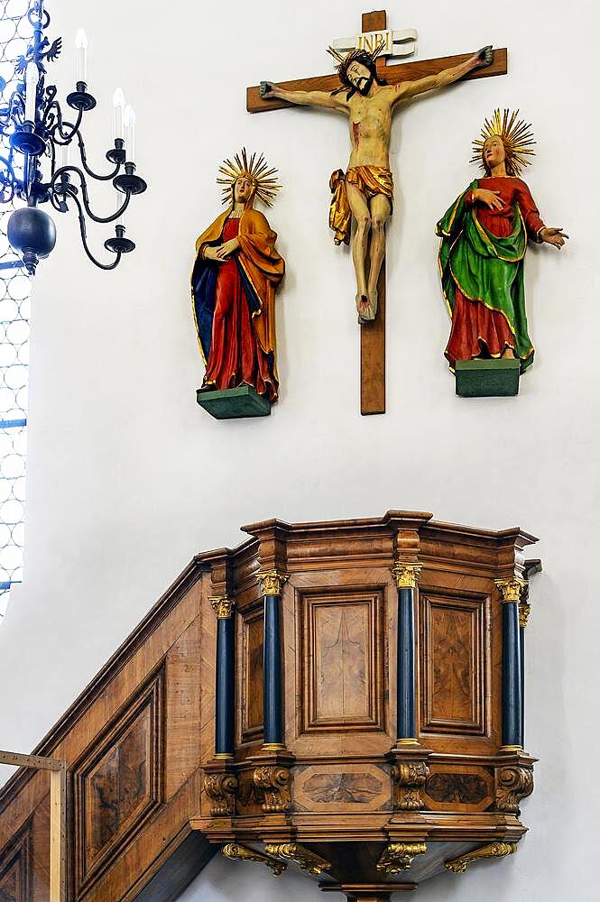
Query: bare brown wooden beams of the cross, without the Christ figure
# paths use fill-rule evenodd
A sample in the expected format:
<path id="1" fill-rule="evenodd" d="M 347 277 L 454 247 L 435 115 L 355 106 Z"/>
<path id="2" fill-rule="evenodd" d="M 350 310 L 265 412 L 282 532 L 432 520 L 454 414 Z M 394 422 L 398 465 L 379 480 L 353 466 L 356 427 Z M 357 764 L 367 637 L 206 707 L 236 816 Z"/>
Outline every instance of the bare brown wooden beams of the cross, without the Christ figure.
<path id="1" fill-rule="evenodd" d="M 383 32 L 387 27 L 387 14 L 384 10 L 363 14 L 363 32 Z M 443 69 L 449 69 L 466 62 L 472 54 L 439 57 L 436 60 L 419 60 L 388 66 L 385 58 L 377 60 L 377 71 L 390 85 L 406 80 L 437 75 Z M 506 75 L 506 48 L 494 51 L 494 60 L 485 69 L 474 69 L 466 78 L 489 78 L 493 75 Z M 300 91 L 333 91 L 339 87 L 337 74 L 318 76 L 317 78 L 300 78 L 296 81 L 279 83 L 287 90 Z M 263 99 L 259 87 L 249 87 L 246 95 L 246 106 L 249 113 L 263 113 L 268 110 L 282 109 L 291 106 L 280 99 Z M 361 413 L 385 413 L 385 261 L 378 282 L 379 306 L 377 317 L 372 323 L 365 323 L 361 328 Z"/>

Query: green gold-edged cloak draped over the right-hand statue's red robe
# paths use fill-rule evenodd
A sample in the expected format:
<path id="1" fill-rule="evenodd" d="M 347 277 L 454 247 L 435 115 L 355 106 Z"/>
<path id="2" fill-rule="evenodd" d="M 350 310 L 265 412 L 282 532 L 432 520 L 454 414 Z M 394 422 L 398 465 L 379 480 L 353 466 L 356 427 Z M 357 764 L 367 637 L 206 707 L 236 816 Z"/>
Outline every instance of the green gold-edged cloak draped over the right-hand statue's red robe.
<path id="1" fill-rule="evenodd" d="M 441 237 L 438 263 L 442 291 L 450 316 L 456 288 L 469 300 L 502 313 L 514 336 L 514 351 L 521 358 L 523 372 L 533 362 L 523 284 L 527 231 L 521 209 L 515 204 L 512 235 L 497 238 L 488 232 L 475 216 L 475 207 L 466 206 L 467 193 L 478 187 L 475 179 L 436 226 L 436 235 Z"/>

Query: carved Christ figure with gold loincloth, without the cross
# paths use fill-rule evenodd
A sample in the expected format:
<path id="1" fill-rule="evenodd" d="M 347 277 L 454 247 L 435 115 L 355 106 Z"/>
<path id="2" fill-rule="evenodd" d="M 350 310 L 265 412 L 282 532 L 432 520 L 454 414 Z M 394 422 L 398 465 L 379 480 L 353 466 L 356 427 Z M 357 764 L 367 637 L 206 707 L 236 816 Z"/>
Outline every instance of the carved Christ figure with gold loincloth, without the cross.
<path id="1" fill-rule="evenodd" d="M 388 85 L 378 74 L 375 63 L 382 49 L 380 44 L 372 53 L 358 50 L 343 57 L 329 48 L 337 60 L 341 82 L 331 93 L 287 91 L 269 81 L 261 83 L 261 97 L 265 99 L 281 98 L 302 106 L 322 106 L 348 117 L 352 152 L 346 174 L 337 170 L 331 177 L 334 199 L 329 225 L 335 232 L 336 244 L 349 244 L 351 218 L 355 220 L 352 259 L 359 323 L 373 320 L 377 313 L 377 281 L 385 256 L 385 223 L 392 213 L 393 202 L 390 170 L 393 113 L 403 100 L 451 85 L 473 69 L 489 66 L 493 59 L 492 47 L 488 46 L 462 65 L 444 69 L 438 75 Z"/>

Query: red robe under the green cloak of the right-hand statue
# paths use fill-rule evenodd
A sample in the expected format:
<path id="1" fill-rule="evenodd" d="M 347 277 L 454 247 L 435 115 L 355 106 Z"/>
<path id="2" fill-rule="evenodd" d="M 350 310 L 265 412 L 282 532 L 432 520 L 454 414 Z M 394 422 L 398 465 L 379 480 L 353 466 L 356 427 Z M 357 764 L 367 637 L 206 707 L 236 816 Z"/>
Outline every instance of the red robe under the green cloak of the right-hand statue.
<path id="1" fill-rule="evenodd" d="M 477 219 L 497 238 L 506 238 L 514 230 L 514 205 L 521 210 L 527 234 L 532 241 L 539 241 L 538 233 L 544 223 L 531 197 L 530 189 L 521 179 L 501 177 L 499 179 L 478 179 L 479 188 L 498 191 L 503 207 L 490 209 L 485 204 L 476 204 Z M 466 199 L 467 205 L 473 206 L 472 192 Z M 455 308 L 452 314 L 452 328 L 446 357 L 454 368 L 457 360 L 473 360 L 481 354 L 500 357 L 505 348 L 514 349 L 512 330 L 498 310 L 490 310 L 484 304 L 469 300 L 461 290 L 456 289 Z"/>

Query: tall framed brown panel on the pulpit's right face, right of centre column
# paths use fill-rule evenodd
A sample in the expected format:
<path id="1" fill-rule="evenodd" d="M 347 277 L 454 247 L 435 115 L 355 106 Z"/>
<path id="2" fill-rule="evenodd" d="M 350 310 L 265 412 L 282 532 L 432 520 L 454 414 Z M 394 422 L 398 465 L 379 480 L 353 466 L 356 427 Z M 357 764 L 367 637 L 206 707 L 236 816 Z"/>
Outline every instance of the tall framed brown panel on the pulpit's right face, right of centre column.
<path id="1" fill-rule="evenodd" d="M 421 730 L 485 732 L 485 598 L 421 594 Z"/>

